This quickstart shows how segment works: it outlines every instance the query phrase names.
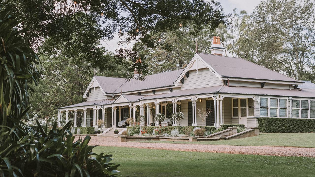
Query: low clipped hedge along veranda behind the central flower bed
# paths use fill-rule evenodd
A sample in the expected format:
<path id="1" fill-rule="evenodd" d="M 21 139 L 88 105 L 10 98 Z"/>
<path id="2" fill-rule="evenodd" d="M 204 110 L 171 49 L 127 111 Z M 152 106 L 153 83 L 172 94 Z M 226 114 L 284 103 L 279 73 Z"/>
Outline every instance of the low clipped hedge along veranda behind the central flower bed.
<path id="1" fill-rule="evenodd" d="M 202 126 L 196 126 L 196 127 L 202 127 Z M 161 134 L 167 133 L 167 134 L 171 134 L 171 131 L 174 129 L 178 128 L 178 131 L 180 134 L 187 134 L 192 132 L 192 130 L 195 128 L 195 126 L 184 126 L 184 127 L 177 127 L 177 126 L 165 126 L 165 127 L 155 127 L 155 126 L 151 126 L 151 127 L 146 127 L 146 126 L 142 126 L 142 131 L 147 131 L 148 134 L 152 134 L 153 130 L 158 128 L 161 131 Z M 214 131 L 216 128 L 213 126 L 204 126 L 203 128 L 206 129 L 206 131 Z M 140 128 L 139 126 L 132 126 L 132 127 L 127 127 L 127 132 L 130 136 L 134 135 L 134 134 L 139 134 Z"/>

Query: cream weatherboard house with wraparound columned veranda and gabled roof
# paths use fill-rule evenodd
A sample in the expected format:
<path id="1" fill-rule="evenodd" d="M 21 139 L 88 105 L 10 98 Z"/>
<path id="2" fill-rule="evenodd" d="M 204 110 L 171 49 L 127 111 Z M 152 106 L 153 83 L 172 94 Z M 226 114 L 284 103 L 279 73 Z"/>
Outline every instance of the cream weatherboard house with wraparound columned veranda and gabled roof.
<path id="1" fill-rule="evenodd" d="M 204 125 L 245 124 L 257 127 L 258 117 L 315 118 L 315 84 L 287 77 L 242 58 L 223 56 L 214 37 L 211 54 L 196 53 L 184 69 L 146 76 L 144 81 L 94 76 L 83 98 L 86 102 L 58 109 L 58 126 L 69 111 L 83 112 L 83 127 L 117 127 L 138 115 L 143 124 L 157 126 L 154 115 L 184 113 L 180 126 L 200 126 L 198 108 L 210 109 Z M 95 118 L 97 117 L 97 118 Z M 79 126 L 76 124 L 75 127 Z M 171 123 L 173 126 L 175 122 Z"/>

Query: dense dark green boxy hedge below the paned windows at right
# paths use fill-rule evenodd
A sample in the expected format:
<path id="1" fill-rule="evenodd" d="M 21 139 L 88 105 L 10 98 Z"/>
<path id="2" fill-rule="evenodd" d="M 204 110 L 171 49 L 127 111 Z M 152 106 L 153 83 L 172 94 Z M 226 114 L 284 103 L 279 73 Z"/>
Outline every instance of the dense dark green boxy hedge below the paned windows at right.
<path id="1" fill-rule="evenodd" d="M 315 119 L 257 118 L 259 131 L 265 133 L 308 133 L 315 132 Z"/>

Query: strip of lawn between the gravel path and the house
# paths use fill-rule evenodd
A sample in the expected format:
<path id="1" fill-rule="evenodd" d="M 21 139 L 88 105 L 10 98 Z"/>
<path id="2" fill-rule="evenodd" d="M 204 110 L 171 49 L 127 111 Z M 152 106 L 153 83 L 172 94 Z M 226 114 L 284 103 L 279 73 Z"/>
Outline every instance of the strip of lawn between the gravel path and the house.
<path id="1" fill-rule="evenodd" d="M 237 146 L 288 146 L 315 147 L 315 133 L 261 133 L 258 136 L 224 141 L 138 141 L 150 143 L 187 143 L 209 145 L 237 145 Z"/>

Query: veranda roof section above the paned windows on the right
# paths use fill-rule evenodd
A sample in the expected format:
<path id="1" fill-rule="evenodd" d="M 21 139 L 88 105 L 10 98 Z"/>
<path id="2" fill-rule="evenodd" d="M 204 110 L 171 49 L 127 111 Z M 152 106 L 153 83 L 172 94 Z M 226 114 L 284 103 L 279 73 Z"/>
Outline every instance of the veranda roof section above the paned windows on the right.
<path id="1" fill-rule="evenodd" d="M 272 95 L 272 96 L 290 96 L 290 97 L 309 97 L 315 98 L 315 89 L 278 89 L 278 88 L 260 88 L 260 87 L 228 87 L 223 86 L 220 93 L 228 94 L 251 94 L 251 95 Z"/>

